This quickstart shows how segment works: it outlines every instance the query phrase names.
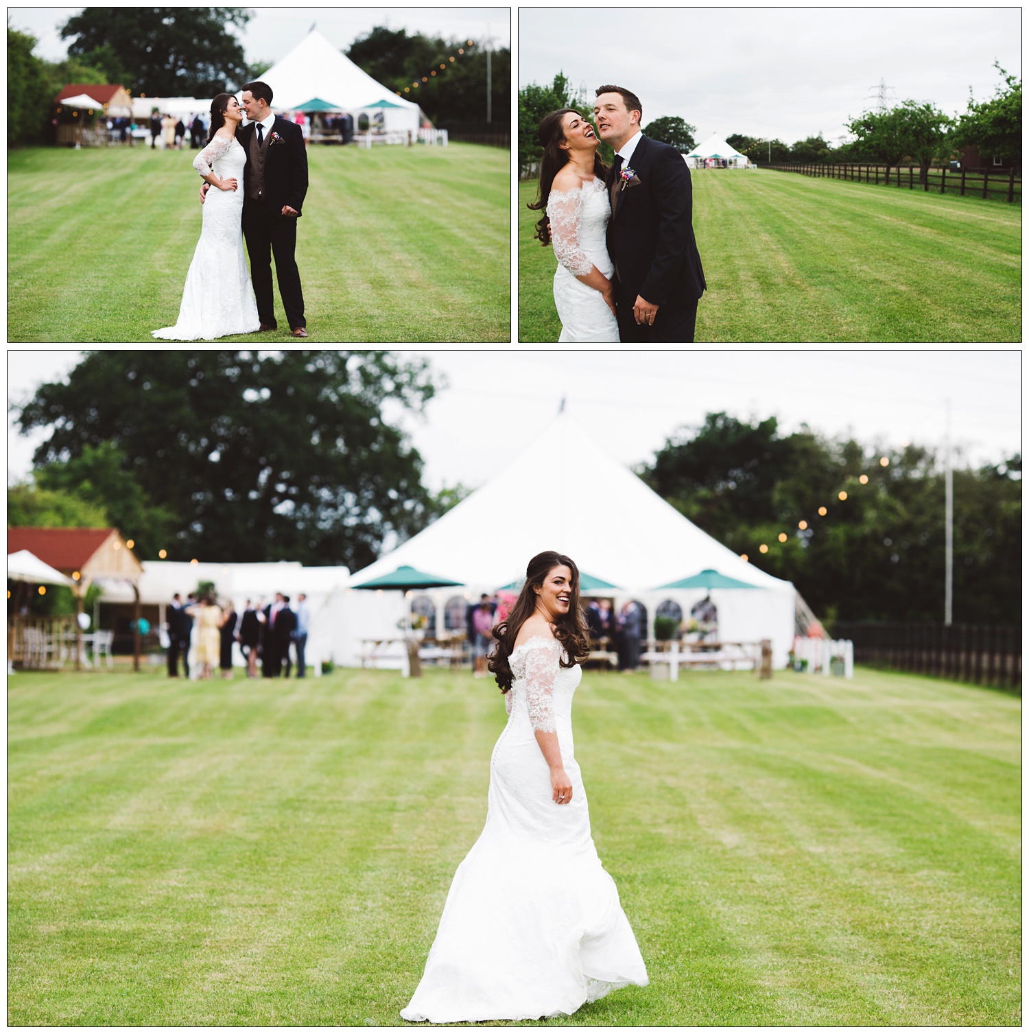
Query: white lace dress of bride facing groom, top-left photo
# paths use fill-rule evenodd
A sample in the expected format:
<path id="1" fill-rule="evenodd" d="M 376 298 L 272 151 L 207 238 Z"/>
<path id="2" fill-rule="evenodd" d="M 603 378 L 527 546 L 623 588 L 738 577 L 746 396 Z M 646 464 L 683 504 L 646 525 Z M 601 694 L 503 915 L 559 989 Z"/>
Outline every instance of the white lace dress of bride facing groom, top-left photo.
<path id="1" fill-rule="evenodd" d="M 203 229 L 186 274 L 179 318 L 153 332 L 171 341 L 250 334 L 261 326 L 243 254 L 243 166 L 246 153 L 235 138 L 215 136 L 193 158 L 202 176 L 235 177 L 236 190 L 211 187 L 203 205 Z"/>

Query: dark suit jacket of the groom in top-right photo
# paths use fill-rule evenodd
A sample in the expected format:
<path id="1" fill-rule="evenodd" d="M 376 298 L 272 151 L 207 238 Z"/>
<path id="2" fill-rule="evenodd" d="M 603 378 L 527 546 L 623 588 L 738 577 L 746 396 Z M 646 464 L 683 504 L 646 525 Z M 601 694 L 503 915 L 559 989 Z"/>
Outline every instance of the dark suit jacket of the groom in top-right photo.
<path id="1" fill-rule="evenodd" d="M 641 136 L 629 166 L 630 182 L 612 184 L 607 250 L 617 277 L 615 297 L 630 309 L 636 296 L 652 305 L 690 306 L 707 287 L 693 237 L 693 186 L 683 155 L 673 147 Z"/>

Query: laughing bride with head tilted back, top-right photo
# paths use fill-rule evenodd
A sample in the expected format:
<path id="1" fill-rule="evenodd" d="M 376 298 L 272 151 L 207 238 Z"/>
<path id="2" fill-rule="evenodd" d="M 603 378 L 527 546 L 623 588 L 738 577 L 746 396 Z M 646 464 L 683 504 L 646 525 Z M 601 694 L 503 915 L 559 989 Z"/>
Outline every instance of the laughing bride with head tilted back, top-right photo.
<path id="1" fill-rule="evenodd" d="M 544 245 L 553 242 L 557 258 L 554 304 L 561 318 L 558 342 L 618 341 L 614 317 L 614 264 L 607 253 L 611 202 L 600 141 L 578 112 L 564 108 L 543 117 L 540 195 L 532 209 L 545 209 L 536 224 Z"/>

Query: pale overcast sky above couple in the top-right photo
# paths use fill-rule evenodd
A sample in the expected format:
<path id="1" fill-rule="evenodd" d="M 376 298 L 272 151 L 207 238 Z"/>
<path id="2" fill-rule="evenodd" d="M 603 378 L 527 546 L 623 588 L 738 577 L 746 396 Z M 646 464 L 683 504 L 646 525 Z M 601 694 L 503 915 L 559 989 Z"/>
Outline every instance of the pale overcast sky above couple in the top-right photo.
<path id="1" fill-rule="evenodd" d="M 518 85 L 564 71 L 587 98 L 603 83 L 633 90 L 643 124 L 677 115 L 697 143 L 717 133 L 787 144 L 847 132 L 880 81 L 894 100 L 964 111 L 1021 75 L 1018 7 L 521 8 Z"/>

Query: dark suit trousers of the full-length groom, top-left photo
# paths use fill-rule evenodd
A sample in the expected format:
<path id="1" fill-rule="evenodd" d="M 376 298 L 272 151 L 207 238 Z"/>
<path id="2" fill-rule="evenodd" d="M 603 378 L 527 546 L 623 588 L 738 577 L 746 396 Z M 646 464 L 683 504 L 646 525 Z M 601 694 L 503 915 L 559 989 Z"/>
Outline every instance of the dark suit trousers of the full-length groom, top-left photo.
<path id="1" fill-rule="evenodd" d="M 258 315 L 269 327 L 278 326 L 275 318 L 275 296 L 272 293 L 272 254 L 275 255 L 275 276 L 282 308 L 290 330 L 306 327 L 304 295 L 297 269 L 297 219 L 273 212 L 267 202 L 243 203 L 243 236 L 250 256 L 250 281 L 258 300 Z"/>

